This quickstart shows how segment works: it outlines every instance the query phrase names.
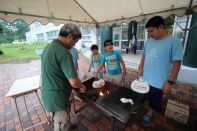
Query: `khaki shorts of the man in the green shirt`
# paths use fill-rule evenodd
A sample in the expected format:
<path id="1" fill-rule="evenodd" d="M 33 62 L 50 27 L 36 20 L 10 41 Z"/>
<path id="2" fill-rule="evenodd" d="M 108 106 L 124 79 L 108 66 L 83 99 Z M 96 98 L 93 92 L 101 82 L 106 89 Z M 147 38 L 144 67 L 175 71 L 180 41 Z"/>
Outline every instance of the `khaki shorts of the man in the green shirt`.
<path id="1" fill-rule="evenodd" d="M 68 111 L 50 112 L 47 116 L 53 122 L 54 131 L 71 131 Z"/>

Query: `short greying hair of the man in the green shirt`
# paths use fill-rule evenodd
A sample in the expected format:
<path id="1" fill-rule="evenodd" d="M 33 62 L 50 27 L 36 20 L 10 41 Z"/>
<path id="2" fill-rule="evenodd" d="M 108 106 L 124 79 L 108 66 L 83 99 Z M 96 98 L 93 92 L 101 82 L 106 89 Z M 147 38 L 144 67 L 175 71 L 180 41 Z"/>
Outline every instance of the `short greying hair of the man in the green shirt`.
<path id="1" fill-rule="evenodd" d="M 67 37 L 69 34 L 73 36 L 74 40 L 81 39 L 82 37 L 80 29 L 76 25 L 71 23 L 62 26 L 59 32 L 59 36 Z"/>

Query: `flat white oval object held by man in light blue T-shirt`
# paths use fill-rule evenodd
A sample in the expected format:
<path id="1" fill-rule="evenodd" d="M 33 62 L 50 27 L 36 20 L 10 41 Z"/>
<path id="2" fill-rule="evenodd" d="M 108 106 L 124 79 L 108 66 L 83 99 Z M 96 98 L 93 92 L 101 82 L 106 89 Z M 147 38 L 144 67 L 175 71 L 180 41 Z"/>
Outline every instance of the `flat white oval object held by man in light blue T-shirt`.
<path id="1" fill-rule="evenodd" d="M 131 89 L 137 93 L 148 93 L 150 90 L 150 87 L 147 82 L 143 80 L 134 80 L 131 83 Z"/>

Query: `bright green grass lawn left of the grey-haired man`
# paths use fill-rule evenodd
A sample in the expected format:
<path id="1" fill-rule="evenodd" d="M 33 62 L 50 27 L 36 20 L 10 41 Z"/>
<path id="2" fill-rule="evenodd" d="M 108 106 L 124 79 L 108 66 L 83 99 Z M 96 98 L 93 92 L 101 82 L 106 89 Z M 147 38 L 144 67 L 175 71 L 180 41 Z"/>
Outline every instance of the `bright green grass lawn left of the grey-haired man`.
<path id="1" fill-rule="evenodd" d="M 33 44 L 6 44 L 0 45 L 0 50 L 3 51 L 3 55 L 0 55 L 0 62 L 12 62 L 17 60 L 28 60 L 40 58 L 35 53 L 37 49 L 44 49 L 47 43 L 36 42 Z"/>

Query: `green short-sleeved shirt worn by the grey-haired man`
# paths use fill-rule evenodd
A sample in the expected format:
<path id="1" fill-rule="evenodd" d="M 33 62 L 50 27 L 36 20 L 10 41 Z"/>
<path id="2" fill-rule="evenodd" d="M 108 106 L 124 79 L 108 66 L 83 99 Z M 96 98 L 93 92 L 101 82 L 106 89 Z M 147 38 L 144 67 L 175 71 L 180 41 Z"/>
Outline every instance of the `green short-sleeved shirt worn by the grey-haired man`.
<path id="1" fill-rule="evenodd" d="M 44 49 L 41 76 L 41 97 L 46 111 L 65 110 L 72 91 L 68 79 L 76 77 L 77 73 L 69 50 L 58 39 Z"/>

